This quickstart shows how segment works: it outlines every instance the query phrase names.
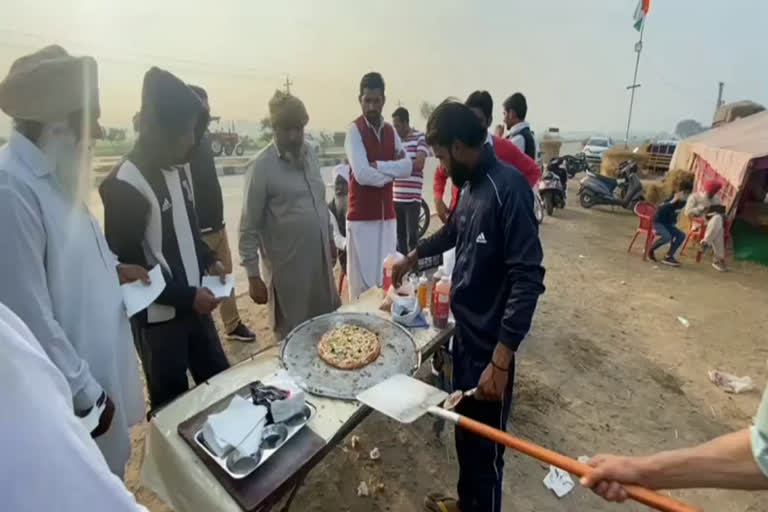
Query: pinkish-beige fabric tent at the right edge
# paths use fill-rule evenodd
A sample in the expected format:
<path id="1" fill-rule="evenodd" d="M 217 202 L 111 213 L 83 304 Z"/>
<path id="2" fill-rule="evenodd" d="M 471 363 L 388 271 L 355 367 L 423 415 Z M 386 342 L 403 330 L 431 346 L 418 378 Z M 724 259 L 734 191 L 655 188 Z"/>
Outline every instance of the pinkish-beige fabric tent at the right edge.
<path id="1" fill-rule="evenodd" d="M 768 265 L 768 111 L 681 141 L 670 169 L 692 171 L 696 190 L 721 182 L 736 257 Z"/>

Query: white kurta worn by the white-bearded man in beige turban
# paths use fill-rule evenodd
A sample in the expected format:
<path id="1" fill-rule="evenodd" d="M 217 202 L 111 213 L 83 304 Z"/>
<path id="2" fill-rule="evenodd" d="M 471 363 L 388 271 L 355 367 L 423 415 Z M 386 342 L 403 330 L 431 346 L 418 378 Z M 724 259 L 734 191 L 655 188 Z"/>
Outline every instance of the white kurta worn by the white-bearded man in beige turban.
<path id="1" fill-rule="evenodd" d="M 102 390 L 115 403 L 112 426 L 96 443 L 122 475 L 128 427 L 141 421 L 144 396 L 117 261 L 85 206 L 59 191 L 53 171 L 17 132 L 0 148 L 0 302 L 64 374 L 75 411 L 89 409 Z"/>

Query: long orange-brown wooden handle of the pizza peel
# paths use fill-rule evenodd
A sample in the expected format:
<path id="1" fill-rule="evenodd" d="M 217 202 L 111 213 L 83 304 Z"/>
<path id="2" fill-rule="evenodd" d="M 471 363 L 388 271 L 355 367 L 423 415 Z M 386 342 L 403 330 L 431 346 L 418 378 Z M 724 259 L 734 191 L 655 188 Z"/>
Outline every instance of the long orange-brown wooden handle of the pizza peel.
<path id="1" fill-rule="evenodd" d="M 563 469 L 573 475 L 582 477 L 592 471 L 590 466 L 582 464 L 581 462 L 570 457 L 560 455 L 559 453 L 553 452 L 552 450 L 548 450 L 528 441 L 523 441 L 518 437 L 511 436 L 506 432 L 495 429 L 486 425 L 485 423 L 480 423 L 479 421 L 467 418 L 466 416 L 457 416 L 457 423 L 461 428 L 469 430 L 470 432 L 474 432 L 475 434 L 485 437 L 486 439 L 490 439 L 496 443 L 508 446 L 526 455 L 530 455 L 531 457 L 542 462 L 557 466 L 558 468 Z M 661 510 L 662 512 L 702 512 L 699 509 L 689 507 L 685 503 L 680 503 L 679 501 L 673 500 L 669 496 L 664 496 L 644 487 L 640 487 L 639 485 L 622 484 L 622 486 L 627 491 L 629 497 L 633 500 L 642 503 L 643 505 L 653 507 L 656 510 Z"/>

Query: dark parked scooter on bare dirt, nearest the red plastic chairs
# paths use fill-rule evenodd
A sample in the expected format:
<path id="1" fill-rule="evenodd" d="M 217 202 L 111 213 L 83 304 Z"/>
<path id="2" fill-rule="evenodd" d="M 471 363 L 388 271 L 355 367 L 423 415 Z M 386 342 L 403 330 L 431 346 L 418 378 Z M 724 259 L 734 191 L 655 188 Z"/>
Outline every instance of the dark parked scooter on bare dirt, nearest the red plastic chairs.
<path id="1" fill-rule="evenodd" d="M 645 200 L 643 184 L 637 172 L 637 162 L 631 160 L 619 164 L 617 178 L 609 178 L 588 170 L 587 176 L 580 182 L 579 203 L 583 208 L 609 204 L 633 210 L 637 203 Z"/>

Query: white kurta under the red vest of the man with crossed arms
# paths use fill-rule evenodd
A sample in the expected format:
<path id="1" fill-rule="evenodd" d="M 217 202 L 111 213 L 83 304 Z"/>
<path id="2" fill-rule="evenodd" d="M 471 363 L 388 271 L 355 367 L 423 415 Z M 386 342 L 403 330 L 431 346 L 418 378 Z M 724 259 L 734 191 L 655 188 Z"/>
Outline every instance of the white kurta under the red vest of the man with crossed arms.
<path id="1" fill-rule="evenodd" d="M 365 120 L 368 123 L 368 120 Z M 376 136 L 381 139 L 382 120 L 378 131 L 368 123 Z M 395 132 L 395 153 L 403 151 L 400 160 L 376 162 L 370 165 L 368 154 L 357 125 L 352 123 L 344 140 L 347 160 L 354 172 L 354 179 L 361 185 L 384 187 L 396 178 L 411 175 L 413 162 L 405 155 L 403 143 Z M 390 192 L 391 193 L 391 192 Z M 381 286 L 384 258 L 397 251 L 397 221 L 395 219 L 347 221 L 347 281 L 349 300 L 374 286 Z"/>

